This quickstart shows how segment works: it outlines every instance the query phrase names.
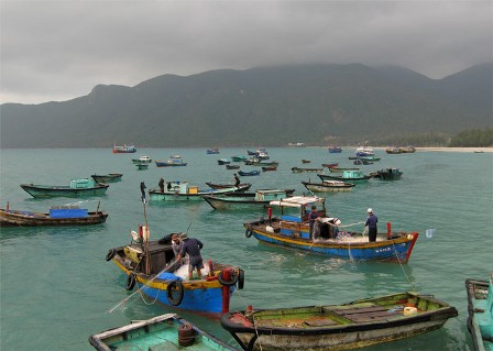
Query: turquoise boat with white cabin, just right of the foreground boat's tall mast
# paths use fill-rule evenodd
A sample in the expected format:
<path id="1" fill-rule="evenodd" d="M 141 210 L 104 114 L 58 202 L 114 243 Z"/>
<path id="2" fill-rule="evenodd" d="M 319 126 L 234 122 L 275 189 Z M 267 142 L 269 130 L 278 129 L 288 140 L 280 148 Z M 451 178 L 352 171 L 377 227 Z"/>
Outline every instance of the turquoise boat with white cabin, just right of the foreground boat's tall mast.
<path id="1" fill-rule="evenodd" d="M 149 190 L 151 201 L 201 201 L 202 195 L 226 194 L 243 190 L 241 187 L 232 185 L 222 189 L 199 189 L 198 186 L 191 186 L 188 182 L 166 182 L 164 191 L 158 187 Z"/>

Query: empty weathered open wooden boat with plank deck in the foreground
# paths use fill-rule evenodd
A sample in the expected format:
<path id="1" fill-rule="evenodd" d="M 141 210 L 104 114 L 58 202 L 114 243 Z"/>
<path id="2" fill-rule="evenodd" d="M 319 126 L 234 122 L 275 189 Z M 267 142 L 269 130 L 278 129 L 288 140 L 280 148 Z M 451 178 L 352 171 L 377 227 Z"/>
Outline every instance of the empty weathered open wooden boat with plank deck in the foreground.
<path id="1" fill-rule="evenodd" d="M 343 305 L 227 312 L 221 326 L 243 350 L 339 351 L 429 332 L 457 316 L 442 300 L 404 292 Z"/>

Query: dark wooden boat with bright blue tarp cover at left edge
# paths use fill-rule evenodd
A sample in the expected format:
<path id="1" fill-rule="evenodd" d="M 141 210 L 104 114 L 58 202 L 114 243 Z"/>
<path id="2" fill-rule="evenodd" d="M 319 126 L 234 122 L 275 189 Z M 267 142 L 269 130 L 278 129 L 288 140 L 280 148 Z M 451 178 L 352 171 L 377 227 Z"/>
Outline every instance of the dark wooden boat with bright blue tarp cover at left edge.
<path id="1" fill-rule="evenodd" d="M 48 212 L 32 212 L 0 208 L 0 227 L 90 226 L 103 223 L 107 212 L 89 212 L 77 206 L 52 206 Z"/>

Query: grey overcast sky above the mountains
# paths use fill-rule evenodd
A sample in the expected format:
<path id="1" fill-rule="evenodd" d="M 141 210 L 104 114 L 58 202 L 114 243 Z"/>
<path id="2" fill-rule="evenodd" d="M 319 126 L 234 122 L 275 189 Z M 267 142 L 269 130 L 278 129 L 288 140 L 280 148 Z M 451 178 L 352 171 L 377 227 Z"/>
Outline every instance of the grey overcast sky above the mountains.
<path id="1" fill-rule="evenodd" d="M 442 78 L 493 61 L 493 1 L 1 0 L 0 103 L 286 63 Z"/>

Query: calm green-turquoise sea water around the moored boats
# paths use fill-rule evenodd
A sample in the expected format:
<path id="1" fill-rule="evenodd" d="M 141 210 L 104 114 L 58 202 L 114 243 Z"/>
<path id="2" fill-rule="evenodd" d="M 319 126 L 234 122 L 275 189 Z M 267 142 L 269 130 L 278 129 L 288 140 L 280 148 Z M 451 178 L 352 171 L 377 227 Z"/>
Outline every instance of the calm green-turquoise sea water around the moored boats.
<path id="1" fill-rule="evenodd" d="M 302 180 L 316 174 L 293 174 L 294 166 L 320 166 L 339 162 L 350 166 L 354 150 L 329 154 L 326 149 L 270 149 L 277 172 L 245 177 L 253 188 L 306 189 Z M 419 231 L 409 263 L 357 263 L 327 259 L 259 243 L 246 239 L 242 222 L 262 212 L 215 211 L 206 202 L 147 204 L 153 238 L 186 231 L 199 238 L 205 259 L 239 264 L 245 270 L 245 288 L 233 296 L 231 309 L 348 303 L 359 298 L 416 290 L 434 294 L 454 306 L 459 317 L 440 330 L 380 344 L 365 350 L 472 350 L 467 331 L 464 279 L 487 278 L 493 270 L 493 154 L 417 152 L 386 155 L 380 163 L 362 166 L 368 172 L 399 167 L 398 182 L 370 180 L 351 193 L 327 195 L 329 212 L 343 223 L 361 222 L 372 207 L 381 229 Z M 136 171 L 132 157 L 150 155 L 165 161 L 180 154 L 187 167 Z M 176 311 L 133 295 L 114 264 L 105 261 L 108 249 L 130 242 L 130 231 L 144 221 L 141 182 L 147 188 L 166 180 L 230 182 L 234 171 L 217 165 L 220 157 L 245 155 L 245 149 L 222 149 L 207 155 L 205 149 L 140 149 L 136 154 L 111 154 L 110 150 L 2 150 L 1 207 L 46 211 L 51 206 L 78 204 L 109 212 L 105 224 L 88 228 L 1 229 L 0 339 L 1 350 L 92 350 L 87 339 L 130 320 Z M 302 165 L 302 158 L 311 164 Z M 253 167 L 242 166 L 249 171 Z M 91 199 L 34 199 L 22 183 L 65 185 L 70 178 L 91 174 L 123 173 L 122 182 L 106 196 Z M 427 239 L 426 229 L 436 229 Z M 178 311 L 202 329 L 234 344 L 218 320 Z"/>

